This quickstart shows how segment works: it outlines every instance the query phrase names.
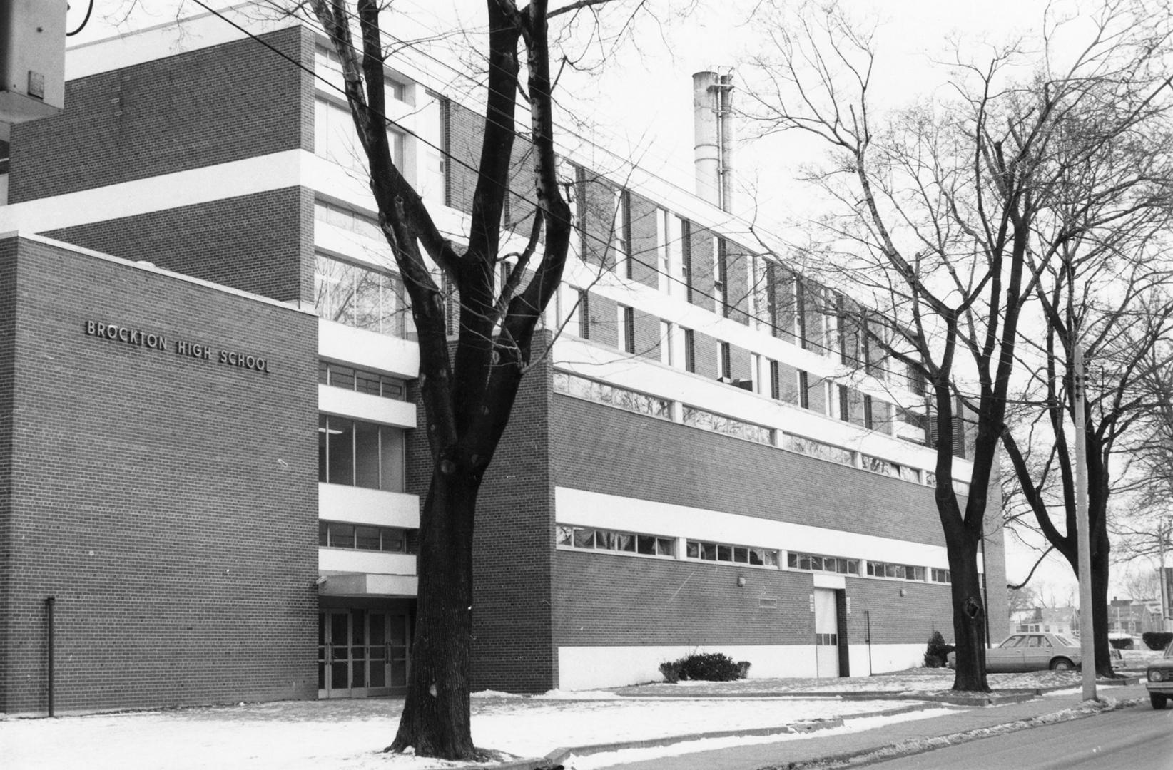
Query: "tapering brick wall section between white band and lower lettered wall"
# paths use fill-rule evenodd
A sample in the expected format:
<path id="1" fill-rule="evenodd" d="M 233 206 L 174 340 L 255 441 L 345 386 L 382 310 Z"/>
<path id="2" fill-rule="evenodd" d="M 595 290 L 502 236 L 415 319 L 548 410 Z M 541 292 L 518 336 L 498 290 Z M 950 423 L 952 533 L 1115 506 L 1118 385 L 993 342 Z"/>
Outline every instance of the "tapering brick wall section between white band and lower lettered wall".
<path id="1" fill-rule="evenodd" d="M 307 188 L 224 198 L 45 234 L 282 301 L 313 301 L 313 191 Z"/>

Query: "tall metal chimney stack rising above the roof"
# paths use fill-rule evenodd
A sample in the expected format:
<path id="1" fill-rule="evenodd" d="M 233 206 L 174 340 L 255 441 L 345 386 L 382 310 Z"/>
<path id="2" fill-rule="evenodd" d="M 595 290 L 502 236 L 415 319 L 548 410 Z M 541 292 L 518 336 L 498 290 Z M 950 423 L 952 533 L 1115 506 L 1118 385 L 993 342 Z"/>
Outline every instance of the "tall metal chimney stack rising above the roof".
<path id="1" fill-rule="evenodd" d="M 733 70 L 692 76 L 697 195 L 723 211 L 733 210 Z"/>

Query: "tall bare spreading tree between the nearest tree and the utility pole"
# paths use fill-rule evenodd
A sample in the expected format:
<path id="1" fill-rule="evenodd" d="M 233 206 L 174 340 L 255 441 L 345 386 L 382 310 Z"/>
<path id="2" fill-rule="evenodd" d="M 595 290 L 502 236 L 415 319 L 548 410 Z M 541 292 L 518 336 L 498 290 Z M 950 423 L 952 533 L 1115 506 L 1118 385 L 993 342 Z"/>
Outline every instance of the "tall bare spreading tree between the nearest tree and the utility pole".
<path id="1" fill-rule="evenodd" d="M 828 148 L 830 165 L 808 180 L 835 210 L 820 223 L 822 243 L 806 251 L 821 271 L 841 271 L 870 294 L 869 340 L 929 386 L 935 499 L 952 577 L 954 688 L 988 690 L 977 552 L 1021 323 L 1065 245 L 1107 226 L 1094 214 L 1062 227 L 1044 219 L 1073 195 L 1071 176 L 1094 170 L 1101 148 L 1134 139 L 1138 120 L 1160 109 L 1165 33 L 1139 4 L 1110 2 L 1084 20 L 1093 32 L 1064 57 L 1051 46 L 1062 20 L 1045 18 L 1042 52 L 1011 45 L 981 61 L 958 54 L 951 98 L 880 117 L 869 102 L 874 29 L 835 7 L 788 21 L 772 28 L 778 55 L 759 69 L 758 117 L 767 132 L 795 131 Z M 1106 185 L 1090 189 L 1110 195 Z M 972 470 L 960 486 L 955 430 L 969 415 Z"/>

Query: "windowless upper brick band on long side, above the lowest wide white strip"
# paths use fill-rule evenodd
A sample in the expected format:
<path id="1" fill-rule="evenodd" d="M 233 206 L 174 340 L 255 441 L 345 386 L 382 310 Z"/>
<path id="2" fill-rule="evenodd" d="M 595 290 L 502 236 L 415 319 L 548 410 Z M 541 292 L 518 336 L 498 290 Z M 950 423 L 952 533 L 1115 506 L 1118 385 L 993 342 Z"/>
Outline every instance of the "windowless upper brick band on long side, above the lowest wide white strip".
<path id="1" fill-rule="evenodd" d="M 560 486 L 944 545 L 928 486 L 571 396 L 551 422 Z"/>

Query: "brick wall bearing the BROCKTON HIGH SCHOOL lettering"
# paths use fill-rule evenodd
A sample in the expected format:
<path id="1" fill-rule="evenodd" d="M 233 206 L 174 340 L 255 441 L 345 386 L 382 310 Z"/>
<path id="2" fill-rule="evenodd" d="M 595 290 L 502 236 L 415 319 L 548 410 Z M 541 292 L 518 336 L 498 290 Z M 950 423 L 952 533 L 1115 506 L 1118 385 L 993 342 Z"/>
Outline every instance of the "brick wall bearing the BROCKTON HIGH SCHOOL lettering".
<path id="1" fill-rule="evenodd" d="M 50 595 L 62 711 L 314 697 L 314 319 L 35 241 L 4 241 L 0 265 L 19 298 L 0 334 L 18 373 L 0 379 L 0 711 L 46 708 Z M 168 349 L 87 335 L 90 320 Z"/>

